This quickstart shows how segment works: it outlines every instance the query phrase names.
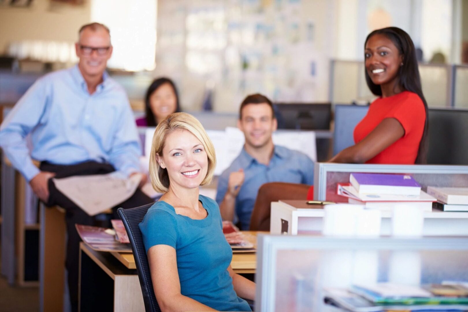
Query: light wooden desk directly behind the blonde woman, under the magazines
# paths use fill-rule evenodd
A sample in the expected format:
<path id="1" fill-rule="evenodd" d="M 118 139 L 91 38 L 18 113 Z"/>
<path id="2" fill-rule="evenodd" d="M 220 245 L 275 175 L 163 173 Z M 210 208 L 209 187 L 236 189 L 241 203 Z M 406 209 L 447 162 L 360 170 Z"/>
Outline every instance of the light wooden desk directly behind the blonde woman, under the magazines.
<path id="1" fill-rule="evenodd" d="M 257 233 L 243 232 L 256 247 Z M 234 253 L 236 273 L 255 273 L 256 253 Z M 145 311 L 131 253 L 106 253 L 80 243 L 79 311 Z"/>

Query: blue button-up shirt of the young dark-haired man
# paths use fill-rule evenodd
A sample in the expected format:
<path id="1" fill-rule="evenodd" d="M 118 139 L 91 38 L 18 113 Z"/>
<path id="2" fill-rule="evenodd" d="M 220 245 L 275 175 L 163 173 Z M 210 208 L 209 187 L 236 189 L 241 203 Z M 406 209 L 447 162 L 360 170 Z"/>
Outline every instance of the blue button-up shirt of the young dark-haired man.
<path id="1" fill-rule="evenodd" d="M 216 202 L 221 204 L 227 192 L 229 174 L 239 169 L 244 170 L 244 183 L 235 200 L 234 219 L 241 221 L 241 229 L 249 230 L 250 215 L 254 209 L 258 189 L 267 182 L 289 182 L 314 184 L 314 162 L 301 152 L 275 145 L 273 156 L 268 166 L 259 163 L 242 149 L 218 179 Z"/>

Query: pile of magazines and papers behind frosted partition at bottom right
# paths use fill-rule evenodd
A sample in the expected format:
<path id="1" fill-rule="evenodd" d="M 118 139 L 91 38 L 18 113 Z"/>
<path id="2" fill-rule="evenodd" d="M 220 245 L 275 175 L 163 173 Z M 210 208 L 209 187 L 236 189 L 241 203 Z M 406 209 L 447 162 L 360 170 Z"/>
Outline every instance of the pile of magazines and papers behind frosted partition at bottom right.
<path id="1" fill-rule="evenodd" d="M 466 283 L 422 287 L 376 283 L 353 285 L 349 289 L 327 289 L 325 293 L 325 303 L 354 312 L 468 310 Z"/>

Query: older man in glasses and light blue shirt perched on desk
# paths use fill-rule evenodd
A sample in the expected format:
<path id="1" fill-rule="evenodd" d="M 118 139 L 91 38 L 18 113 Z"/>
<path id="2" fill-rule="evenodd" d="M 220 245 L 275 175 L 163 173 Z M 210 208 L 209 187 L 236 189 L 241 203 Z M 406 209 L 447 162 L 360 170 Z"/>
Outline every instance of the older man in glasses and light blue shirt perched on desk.
<path id="1" fill-rule="evenodd" d="M 0 126 L 0 146 L 36 195 L 48 206 L 66 209 L 66 268 L 73 311 L 78 309 L 80 242 L 74 225 L 95 225 L 96 220 L 60 193 L 51 178 L 115 170 L 126 176 L 141 174 L 141 148 L 127 95 L 105 72 L 112 55 L 109 29 L 99 23 L 81 27 L 76 54 L 77 65 L 38 79 Z M 39 168 L 32 159 L 41 162 Z M 151 202 L 138 189 L 118 206 Z"/>

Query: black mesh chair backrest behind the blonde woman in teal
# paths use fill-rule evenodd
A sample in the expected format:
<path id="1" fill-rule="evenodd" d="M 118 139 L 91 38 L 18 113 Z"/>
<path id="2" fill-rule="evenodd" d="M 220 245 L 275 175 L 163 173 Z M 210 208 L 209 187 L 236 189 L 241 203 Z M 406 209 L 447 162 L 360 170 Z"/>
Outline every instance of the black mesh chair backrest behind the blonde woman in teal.
<path id="1" fill-rule="evenodd" d="M 124 223 L 130 244 L 132 245 L 133 257 L 137 267 L 138 278 L 140 280 L 141 292 L 145 302 L 146 312 L 160 312 L 156 296 L 154 295 L 153 282 L 149 271 L 148 257 L 146 256 L 145 246 L 143 245 L 143 236 L 141 235 L 138 224 L 143 221 L 146 211 L 153 203 L 132 209 L 117 209 L 117 213 Z"/>

